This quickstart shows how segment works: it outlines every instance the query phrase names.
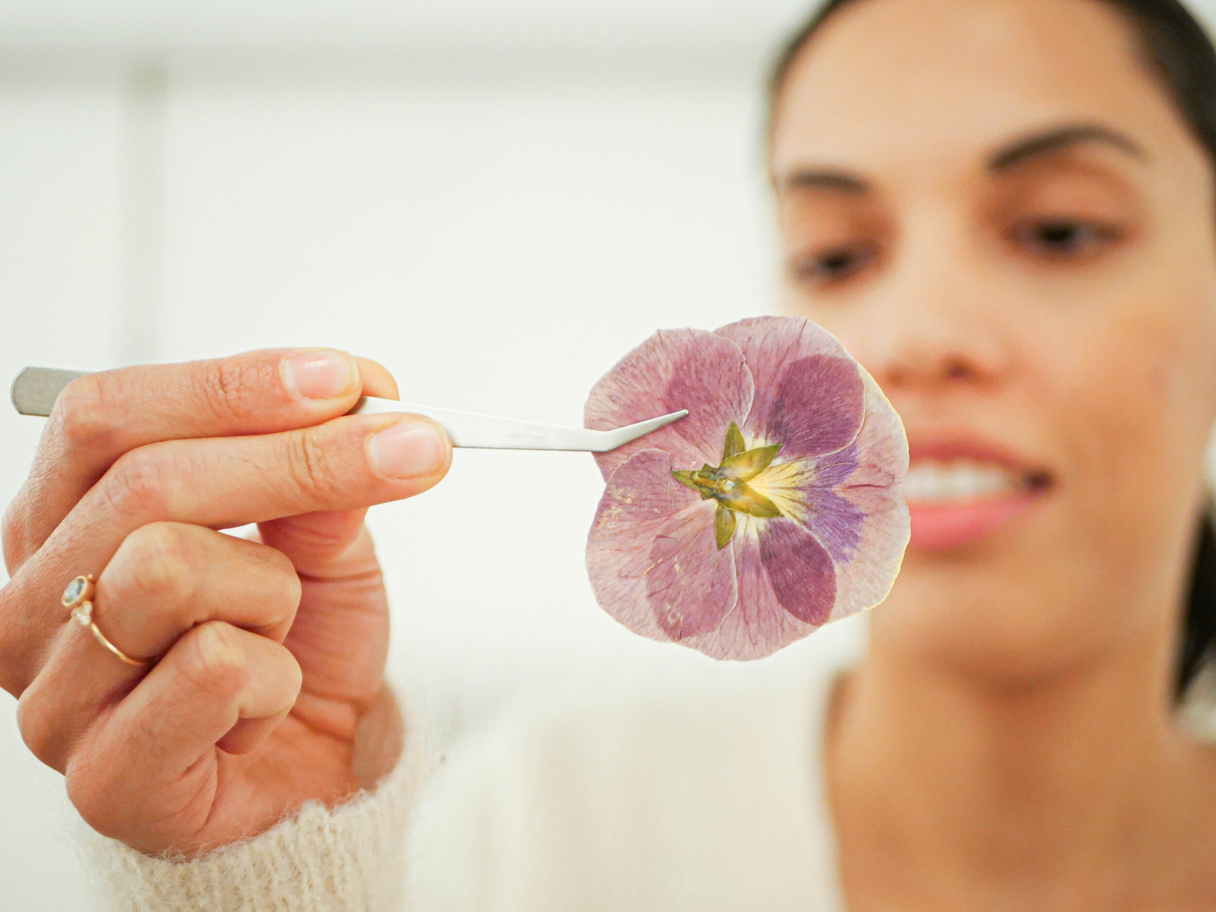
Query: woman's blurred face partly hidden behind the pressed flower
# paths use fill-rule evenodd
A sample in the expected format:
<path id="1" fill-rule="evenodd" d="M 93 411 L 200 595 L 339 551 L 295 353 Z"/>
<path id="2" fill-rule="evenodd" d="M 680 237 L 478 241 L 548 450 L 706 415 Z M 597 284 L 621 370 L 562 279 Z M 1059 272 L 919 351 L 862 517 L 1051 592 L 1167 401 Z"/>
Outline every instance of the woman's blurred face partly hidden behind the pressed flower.
<path id="1" fill-rule="evenodd" d="M 1216 417 L 1216 212 L 1131 28 L 1096 0 L 858 1 L 790 71 L 771 167 L 788 310 L 911 443 L 876 642 L 1026 676 L 1160 631 Z"/>

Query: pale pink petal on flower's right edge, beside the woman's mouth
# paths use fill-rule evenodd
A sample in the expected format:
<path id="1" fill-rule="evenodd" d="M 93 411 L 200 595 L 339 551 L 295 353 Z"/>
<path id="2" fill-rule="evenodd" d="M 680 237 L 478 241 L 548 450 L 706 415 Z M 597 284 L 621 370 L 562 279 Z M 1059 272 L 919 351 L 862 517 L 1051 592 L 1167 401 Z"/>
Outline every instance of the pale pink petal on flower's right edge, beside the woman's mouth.
<path id="1" fill-rule="evenodd" d="M 911 533 L 902 492 L 908 468 L 903 422 L 865 370 L 862 378 L 866 421 L 850 447 L 856 465 L 832 491 L 852 503 L 865 519 L 852 556 L 837 562 L 838 595 L 831 620 L 873 608 L 886 598 Z M 815 528 L 814 520 L 810 525 Z"/>

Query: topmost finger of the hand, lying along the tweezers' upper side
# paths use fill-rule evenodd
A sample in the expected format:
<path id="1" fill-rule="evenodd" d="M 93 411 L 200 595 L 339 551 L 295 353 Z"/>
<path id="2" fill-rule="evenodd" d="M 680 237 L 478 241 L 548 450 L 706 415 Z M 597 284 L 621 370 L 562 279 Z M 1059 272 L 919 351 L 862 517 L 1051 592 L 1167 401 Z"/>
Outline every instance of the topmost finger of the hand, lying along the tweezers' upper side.
<path id="1" fill-rule="evenodd" d="M 124 452 L 161 440 L 269 434 L 395 396 L 375 361 L 336 349 L 269 349 L 73 381 L 55 401 L 34 466 L 4 518 L 10 575 Z"/>

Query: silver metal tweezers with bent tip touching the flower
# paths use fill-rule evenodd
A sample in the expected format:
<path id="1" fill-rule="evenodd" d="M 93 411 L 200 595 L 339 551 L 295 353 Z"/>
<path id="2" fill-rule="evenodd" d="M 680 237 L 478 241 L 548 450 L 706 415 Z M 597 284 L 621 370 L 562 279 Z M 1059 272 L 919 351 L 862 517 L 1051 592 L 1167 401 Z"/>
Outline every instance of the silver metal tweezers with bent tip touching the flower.
<path id="1" fill-rule="evenodd" d="M 49 417 L 55 399 L 63 388 L 86 371 L 60 371 L 52 367 L 27 367 L 12 382 L 12 404 L 21 415 Z M 350 410 L 351 415 L 376 415 L 382 412 L 424 415 L 438 422 L 451 438 L 452 446 L 478 450 L 581 450 L 608 452 L 652 430 L 679 421 L 688 413 L 682 409 L 670 415 L 626 424 L 615 430 L 589 430 L 540 424 L 534 421 L 497 418 L 491 415 L 461 412 L 454 409 L 437 409 L 430 405 L 398 402 L 392 399 L 364 396 Z"/>

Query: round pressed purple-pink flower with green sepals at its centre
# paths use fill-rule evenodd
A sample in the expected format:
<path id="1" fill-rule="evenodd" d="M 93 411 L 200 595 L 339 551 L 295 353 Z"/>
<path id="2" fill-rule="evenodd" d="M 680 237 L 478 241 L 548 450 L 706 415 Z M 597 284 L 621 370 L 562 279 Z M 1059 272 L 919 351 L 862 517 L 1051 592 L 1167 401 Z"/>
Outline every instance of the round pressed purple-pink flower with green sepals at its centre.
<path id="1" fill-rule="evenodd" d="M 599 604 L 642 636 L 755 659 L 886 597 L 908 541 L 903 426 L 827 331 L 758 317 L 658 332 L 586 426 L 688 416 L 599 454 Z"/>

